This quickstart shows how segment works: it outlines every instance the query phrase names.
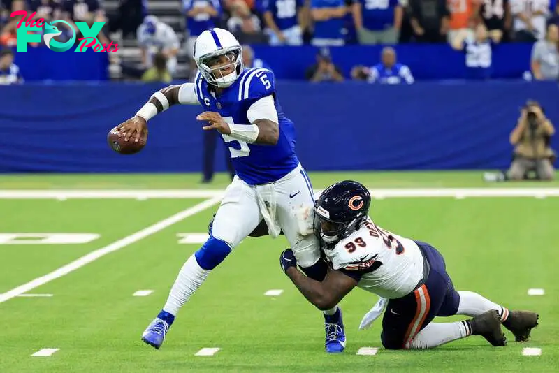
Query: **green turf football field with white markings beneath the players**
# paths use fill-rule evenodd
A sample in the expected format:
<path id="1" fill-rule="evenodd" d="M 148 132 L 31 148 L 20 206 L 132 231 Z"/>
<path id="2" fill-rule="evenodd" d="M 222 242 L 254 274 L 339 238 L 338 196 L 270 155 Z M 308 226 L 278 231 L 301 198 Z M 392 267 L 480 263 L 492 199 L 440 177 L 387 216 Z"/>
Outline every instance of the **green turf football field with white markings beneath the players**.
<path id="1" fill-rule="evenodd" d="M 516 343 L 508 333 L 504 348 L 469 337 L 430 351 L 379 349 L 375 356 L 357 356 L 359 348 L 381 344 L 379 321 L 358 330 L 377 298 L 356 289 L 342 302 L 347 349 L 327 356 L 321 314 L 279 268 L 286 240 L 261 237 L 244 240 L 212 272 L 156 351 L 140 341 L 141 333 L 164 304 L 182 263 L 198 249 L 197 243 L 180 242 L 184 234 L 206 232 L 226 176 L 208 185 L 198 184 L 198 175 L 14 175 L 0 177 L 0 372 L 559 371 L 559 198 L 551 196 L 559 195 L 558 182 L 485 184 L 480 173 L 310 177 L 316 189 L 351 178 L 369 186 L 373 196 L 375 189 L 409 192 L 405 198 L 373 200 L 377 224 L 440 249 L 459 290 L 538 312 L 540 325 L 531 341 Z M 467 189 L 454 198 L 455 189 L 447 188 Z M 148 189 L 198 194 L 147 200 L 133 193 L 111 196 L 115 190 Z M 449 196 L 412 196 L 426 189 Z M 488 189 L 497 195 L 518 189 L 527 196 L 468 192 Z M 67 193 L 94 190 L 104 194 Z M 60 243 L 69 238 L 52 233 L 99 237 Z M 543 288 L 545 294 L 530 296 L 529 288 Z M 283 293 L 265 296 L 270 289 Z M 133 296 L 138 290 L 153 293 Z M 21 296 L 29 294 L 52 296 Z M 205 347 L 219 351 L 195 356 Z M 540 348 L 542 355 L 523 356 L 525 347 Z M 31 356 L 48 348 L 59 351 Z"/>

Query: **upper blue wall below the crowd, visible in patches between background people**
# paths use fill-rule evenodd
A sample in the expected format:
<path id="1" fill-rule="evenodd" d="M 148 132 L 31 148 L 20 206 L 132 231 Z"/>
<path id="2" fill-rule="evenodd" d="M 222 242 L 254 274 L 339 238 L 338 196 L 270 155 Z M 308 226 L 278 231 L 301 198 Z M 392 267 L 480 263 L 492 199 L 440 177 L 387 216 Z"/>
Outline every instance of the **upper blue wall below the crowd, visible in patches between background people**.
<path id="1" fill-rule="evenodd" d="M 380 46 L 352 45 L 333 47 L 335 64 L 349 78 L 351 67 L 372 66 L 379 62 Z M 398 60 L 407 64 L 417 80 L 463 79 L 466 77 L 465 57 L 449 45 L 396 45 Z M 493 78 L 521 78 L 530 70 L 532 45 L 502 44 L 493 50 Z M 254 46 L 255 56 L 273 68 L 279 79 L 302 80 L 305 69 L 314 64 L 317 48 Z M 108 80 L 108 54 L 89 50 L 75 53 L 52 52 L 45 47 L 29 47 L 17 53 L 15 63 L 20 66 L 25 80 Z"/>

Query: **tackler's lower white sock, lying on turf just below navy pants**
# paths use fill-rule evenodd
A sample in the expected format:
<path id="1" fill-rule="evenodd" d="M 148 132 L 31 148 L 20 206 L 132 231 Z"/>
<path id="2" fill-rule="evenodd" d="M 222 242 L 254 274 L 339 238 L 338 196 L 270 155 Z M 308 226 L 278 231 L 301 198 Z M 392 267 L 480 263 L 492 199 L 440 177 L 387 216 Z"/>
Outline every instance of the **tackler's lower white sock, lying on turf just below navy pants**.
<path id="1" fill-rule="evenodd" d="M 472 334 L 470 323 L 456 321 L 455 323 L 429 323 L 423 328 L 407 349 L 430 349 L 448 342 L 456 341 Z"/>

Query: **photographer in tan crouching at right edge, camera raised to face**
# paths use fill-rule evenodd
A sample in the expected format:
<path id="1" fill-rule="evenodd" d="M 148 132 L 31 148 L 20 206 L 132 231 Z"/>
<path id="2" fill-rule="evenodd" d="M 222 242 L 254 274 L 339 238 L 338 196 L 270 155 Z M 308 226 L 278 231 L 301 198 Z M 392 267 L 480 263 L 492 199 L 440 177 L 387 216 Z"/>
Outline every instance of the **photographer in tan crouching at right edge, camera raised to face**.
<path id="1" fill-rule="evenodd" d="M 553 124 L 546 118 L 542 106 L 536 101 L 528 101 L 511 132 L 514 161 L 509 168 L 508 178 L 523 180 L 533 170 L 537 179 L 553 180 L 555 153 L 549 146 L 549 140 L 554 133 Z"/>

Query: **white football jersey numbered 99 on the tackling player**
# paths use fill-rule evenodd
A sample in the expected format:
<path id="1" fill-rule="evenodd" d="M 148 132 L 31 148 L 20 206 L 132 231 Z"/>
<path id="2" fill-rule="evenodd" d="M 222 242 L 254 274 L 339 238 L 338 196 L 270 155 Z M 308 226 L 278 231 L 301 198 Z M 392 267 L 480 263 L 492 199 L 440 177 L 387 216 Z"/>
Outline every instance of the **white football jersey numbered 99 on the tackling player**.
<path id="1" fill-rule="evenodd" d="M 382 298 L 401 298 L 423 279 L 423 255 L 417 244 L 379 228 L 371 219 L 324 253 L 334 270 L 365 272 L 357 286 Z"/>

